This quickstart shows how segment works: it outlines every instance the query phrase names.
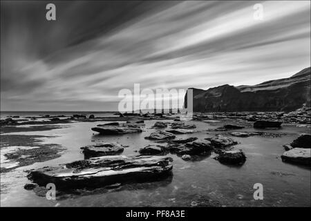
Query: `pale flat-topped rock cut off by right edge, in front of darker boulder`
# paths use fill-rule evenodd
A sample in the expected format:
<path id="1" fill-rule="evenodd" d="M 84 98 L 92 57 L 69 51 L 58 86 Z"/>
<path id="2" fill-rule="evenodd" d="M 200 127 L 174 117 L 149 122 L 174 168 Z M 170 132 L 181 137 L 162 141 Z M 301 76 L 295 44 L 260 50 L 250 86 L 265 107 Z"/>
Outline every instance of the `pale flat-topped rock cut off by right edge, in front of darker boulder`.
<path id="1" fill-rule="evenodd" d="M 292 148 L 290 151 L 285 151 L 281 155 L 284 162 L 292 162 L 296 164 L 311 164 L 310 148 Z"/>

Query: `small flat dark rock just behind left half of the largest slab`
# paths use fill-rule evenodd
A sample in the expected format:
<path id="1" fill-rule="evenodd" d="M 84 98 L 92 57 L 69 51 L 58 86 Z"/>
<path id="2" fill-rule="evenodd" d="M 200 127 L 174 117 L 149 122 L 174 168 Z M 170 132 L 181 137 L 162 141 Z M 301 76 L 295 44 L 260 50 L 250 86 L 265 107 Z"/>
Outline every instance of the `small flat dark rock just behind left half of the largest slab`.
<path id="1" fill-rule="evenodd" d="M 84 146 L 81 148 L 84 157 L 100 157 L 104 155 L 115 155 L 124 151 L 123 146 L 117 143 L 102 143 Z"/>

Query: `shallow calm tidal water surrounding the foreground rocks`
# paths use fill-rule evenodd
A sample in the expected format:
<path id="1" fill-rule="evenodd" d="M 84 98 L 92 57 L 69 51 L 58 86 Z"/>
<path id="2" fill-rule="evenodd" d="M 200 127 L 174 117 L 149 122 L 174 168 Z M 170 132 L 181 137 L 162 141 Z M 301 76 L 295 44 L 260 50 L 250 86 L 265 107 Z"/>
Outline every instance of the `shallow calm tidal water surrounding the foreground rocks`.
<path id="1" fill-rule="evenodd" d="M 64 128 L 52 131 L 14 133 L 55 136 L 45 139 L 44 142 L 61 144 L 66 151 L 57 159 L 1 174 L 1 206 L 191 206 L 202 200 L 213 200 L 219 202 L 220 206 L 311 205 L 310 168 L 281 161 L 284 152 L 282 145 L 292 142 L 299 133 L 310 130 L 295 126 L 284 126 L 280 130 L 270 131 L 288 133 L 281 138 L 233 137 L 240 142 L 236 148 L 241 148 L 247 156 L 247 161 L 241 167 L 220 164 L 213 159 L 214 153 L 194 162 L 185 162 L 176 155 L 169 155 L 173 157 L 173 176 L 159 182 L 131 184 L 119 191 L 108 193 L 99 190 L 82 195 L 66 195 L 57 200 L 40 198 L 32 191 L 23 189 L 23 185 L 29 182 L 25 170 L 82 160 L 82 146 L 95 142 L 119 142 L 129 145 L 124 149 L 123 155 L 137 155 L 135 151 L 139 148 L 152 144 L 144 137 L 155 131 L 151 128 L 155 121 L 146 121 L 143 133 L 120 136 L 102 136 L 91 131 L 91 127 L 102 123 L 76 122 L 64 124 Z M 214 135 L 214 132 L 205 130 L 216 128 L 223 122 L 189 124 L 196 124 L 197 130 L 200 131 L 191 136 L 203 140 Z M 250 127 L 241 131 L 254 129 Z M 189 135 L 178 135 L 178 138 L 181 137 Z M 255 183 L 263 184 L 263 200 L 253 198 Z"/>

